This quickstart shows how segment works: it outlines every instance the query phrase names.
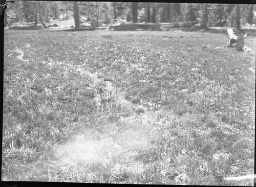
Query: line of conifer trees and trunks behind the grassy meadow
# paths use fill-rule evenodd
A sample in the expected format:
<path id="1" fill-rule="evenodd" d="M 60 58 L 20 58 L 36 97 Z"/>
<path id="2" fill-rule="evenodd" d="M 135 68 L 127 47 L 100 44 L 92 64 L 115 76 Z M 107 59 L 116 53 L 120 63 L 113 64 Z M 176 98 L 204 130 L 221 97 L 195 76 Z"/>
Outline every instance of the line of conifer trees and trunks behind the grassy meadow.
<path id="1" fill-rule="evenodd" d="M 15 1 L 5 12 L 5 26 L 13 22 L 38 22 L 43 27 L 54 19 L 73 19 L 75 28 L 82 22 L 98 27 L 110 20 L 132 22 L 197 22 L 202 27 L 256 23 L 256 5 L 137 3 L 137 2 L 45 2 Z"/>

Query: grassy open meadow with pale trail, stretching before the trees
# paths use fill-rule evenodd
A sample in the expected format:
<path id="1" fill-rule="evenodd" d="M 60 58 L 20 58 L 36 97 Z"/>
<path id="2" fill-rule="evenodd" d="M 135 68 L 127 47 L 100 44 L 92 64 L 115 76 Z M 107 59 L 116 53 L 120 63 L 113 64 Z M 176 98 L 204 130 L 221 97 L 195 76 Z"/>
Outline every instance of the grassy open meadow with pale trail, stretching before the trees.
<path id="1" fill-rule="evenodd" d="M 256 37 L 227 42 L 5 30 L 2 180 L 253 185 L 225 177 L 254 173 Z"/>

